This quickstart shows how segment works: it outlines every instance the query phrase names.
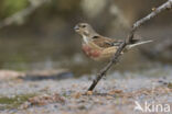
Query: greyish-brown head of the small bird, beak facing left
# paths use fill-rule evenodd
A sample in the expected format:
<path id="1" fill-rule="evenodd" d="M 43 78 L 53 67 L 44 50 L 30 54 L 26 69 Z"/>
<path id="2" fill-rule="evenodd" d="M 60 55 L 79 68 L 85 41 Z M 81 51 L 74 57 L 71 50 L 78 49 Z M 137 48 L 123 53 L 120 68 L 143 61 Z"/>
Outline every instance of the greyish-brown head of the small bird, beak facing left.
<path id="1" fill-rule="evenodd" d="M 97 34 L 88 23 L 78 23 L 75 25 L 74 30 L 82 36 L 92 36 Z"/>

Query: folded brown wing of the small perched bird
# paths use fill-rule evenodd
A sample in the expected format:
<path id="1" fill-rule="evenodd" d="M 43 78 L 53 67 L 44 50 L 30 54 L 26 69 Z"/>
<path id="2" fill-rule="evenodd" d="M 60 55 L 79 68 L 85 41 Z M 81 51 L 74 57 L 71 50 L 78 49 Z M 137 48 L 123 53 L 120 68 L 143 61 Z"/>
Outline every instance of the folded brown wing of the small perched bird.
<path id="1" fill-rule="evenodd" d="M 99 47 L 111 47 L 111 46 L 119 46 L 122 41 L 112 39 L 104 36 L 94 36 L 93 42 L 98 45 Z"/>

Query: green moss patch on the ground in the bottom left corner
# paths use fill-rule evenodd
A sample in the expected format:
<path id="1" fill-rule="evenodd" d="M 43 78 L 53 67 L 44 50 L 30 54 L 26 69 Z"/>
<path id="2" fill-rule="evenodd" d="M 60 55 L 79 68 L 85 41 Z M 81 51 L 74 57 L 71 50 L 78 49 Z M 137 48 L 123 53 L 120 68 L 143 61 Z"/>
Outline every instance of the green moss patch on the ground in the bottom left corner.
<path id="1" fill-rule="evenodd" d="M 32 96 L 35 96 L 35 94 L 22 94 L 22 95 L 17 95 L 14 98 L 1 96 L 0 98 L 0 104 L 1 104 L 0 110 L 17 109 L 18 106 L 20 106 L 22 103 L 24 103 Z"/>

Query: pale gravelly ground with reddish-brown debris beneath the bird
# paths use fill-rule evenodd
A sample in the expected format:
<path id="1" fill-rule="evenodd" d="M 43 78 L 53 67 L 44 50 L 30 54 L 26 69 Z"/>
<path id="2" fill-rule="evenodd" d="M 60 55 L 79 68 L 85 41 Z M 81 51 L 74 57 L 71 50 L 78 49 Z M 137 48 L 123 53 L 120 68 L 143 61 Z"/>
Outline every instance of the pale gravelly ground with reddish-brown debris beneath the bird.
<path id="1" fill-rule="evenodd" d="M 146 102 L 151 107 L 162 104 L 164 109 L 166 104 L 170 112 L 158 109 L 152 114 L 172 114 L 170 69 L 114 72 L 101 80 L 94 92 L 86 92 L 92 83 L 87 76 L 65 80 L 0 80 L 0 114 L 147 114 L 133 111 L 136 102 L 143 110 Z M 28 98 L 19 105 L 12 105 L 25 95 Z M 7 98 L 13 102 L 3 102 Z"/>

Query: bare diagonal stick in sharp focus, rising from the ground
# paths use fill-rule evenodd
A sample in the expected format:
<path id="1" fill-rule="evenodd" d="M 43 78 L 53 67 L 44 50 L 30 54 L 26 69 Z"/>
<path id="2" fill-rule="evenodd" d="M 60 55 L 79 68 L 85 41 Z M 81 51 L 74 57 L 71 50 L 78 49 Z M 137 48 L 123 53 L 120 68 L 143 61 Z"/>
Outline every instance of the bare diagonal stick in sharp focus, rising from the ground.
<path id="1" fill-rule="evenodd" d="M 96 79 L 93 80 L 92 86 L 89 87 L 88 91 L 93 91 L 95 89 L 95 87 L 97 86 L 97 83 L 99 82 L 99 80 L 107 73 L 107 71 L 111 68 L 112 65 L 116 65 L 118 62 L 118 58 L 121 55 L 121 52 L 125 49 L 125 47 L 131 43 L 132 38 L 133 38 L 133 34 L 136 32 L 136 30 L 138 27 L 140 27 L 143 23 L 146 23 L 147 21 L 151 20 L 152 18 L 154 18 L 155 15 L 158 15 L 160 12 L 164 11 L 164 10 L 169 10 L 172 8 L 172 0 L 166 1 L 165 3 L 163 3 L 162 5 L 160 5 L 159 8 L 154 9 L 150 14 L 148 14 L 146 18 L 137 21 L 132 29 L 131 32 L 129 34 L 129 36 L 122 42 L 122 44 L 119 46 L 119 48 L 117 49 L 116 54 L 114 55 L 114 57 L 111 58 L 111 60 L 108 62 L 107 66 L 105 66 L 99 73 L 97 75 Z"/>

